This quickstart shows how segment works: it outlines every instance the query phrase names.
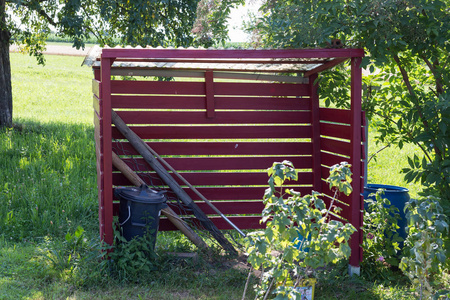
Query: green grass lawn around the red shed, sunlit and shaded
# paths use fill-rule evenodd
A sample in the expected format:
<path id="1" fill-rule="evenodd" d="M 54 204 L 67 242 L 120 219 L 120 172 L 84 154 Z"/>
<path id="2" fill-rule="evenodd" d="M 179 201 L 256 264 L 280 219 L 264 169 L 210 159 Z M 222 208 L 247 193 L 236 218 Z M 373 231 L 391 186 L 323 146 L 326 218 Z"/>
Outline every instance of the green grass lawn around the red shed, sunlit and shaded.
<path id="1" fill-rule="evenodd" d="M 0 299 L 240 299 L 246 271 L 220 256 L 197 262 L 167 256 L 166 250 L 194 250 L 176 233 L 160 234 L 159 258 L 144 277 L 126 280 L 91 257 L 100 255 L 101 246 L 93 75 L 82 61 L 46 56 L 43 67 L 11 54 L 15 129 L 0 131 Z M 370 149 L 377 148 L 371 143 Z M 369 165 L 369 183 L 407 186 L 417 195 L 420 186 L 405 185 L 400 174 L 414 151 L 406 146 L 381 152 Z M 73 240 L 78 226 L 85 232 Z M 398 272 L 349 278 L 343 262 L 325 273 L 316 299 L 414 298 Z"/>

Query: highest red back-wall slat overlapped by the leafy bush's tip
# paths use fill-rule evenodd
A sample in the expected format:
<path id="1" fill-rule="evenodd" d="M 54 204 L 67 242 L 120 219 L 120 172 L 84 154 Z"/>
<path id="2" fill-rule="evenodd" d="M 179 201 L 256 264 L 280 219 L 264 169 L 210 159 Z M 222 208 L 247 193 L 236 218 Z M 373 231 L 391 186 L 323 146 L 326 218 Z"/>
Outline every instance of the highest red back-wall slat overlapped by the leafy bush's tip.
<path id="1" fill-rule="evenodd" d="M 168 157 L 165 161 L 175 170 L 265 170 L 274 162 L 283 160 L 291 161 L 297 169 L 309 169 L 312 167 L 310 156 L 300 157 Z M 150 167 L 142 158 L 123 158 L 127 164 L 139 164 L 141 171 L 150 170 Z M 147 167 L 147 169 L 144 169 Z"/>

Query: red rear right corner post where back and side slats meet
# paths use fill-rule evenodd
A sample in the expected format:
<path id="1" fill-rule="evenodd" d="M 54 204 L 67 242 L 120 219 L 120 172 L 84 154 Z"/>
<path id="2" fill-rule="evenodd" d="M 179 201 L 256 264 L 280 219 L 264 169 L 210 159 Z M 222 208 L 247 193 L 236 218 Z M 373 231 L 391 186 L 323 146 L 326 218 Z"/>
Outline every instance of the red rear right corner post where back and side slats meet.
<path id="1" fill-rule="evenodd" d="M 317 73 L 309 76 L 309 93 L 311 97 L 311 143 L 312 143 L 312 169 L 313 188 L 322 192 L 322 168 L 320 160 L 320 115 L 319 115 L 319 95 L 317 94 L 318 84 L 315 83 Z"/>

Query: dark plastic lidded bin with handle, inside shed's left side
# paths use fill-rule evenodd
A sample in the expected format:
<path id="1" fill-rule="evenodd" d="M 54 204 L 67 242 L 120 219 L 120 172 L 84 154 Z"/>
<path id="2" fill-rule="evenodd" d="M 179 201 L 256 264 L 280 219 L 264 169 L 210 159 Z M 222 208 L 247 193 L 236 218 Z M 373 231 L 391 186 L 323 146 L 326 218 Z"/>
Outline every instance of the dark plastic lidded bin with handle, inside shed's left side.
<path id="1" fill-rule="evenodd" d="M 119 224 L 127 241 L 148 233 L 155 244 L 161 209 L 167 207 L 165 192 L 153 190 L 144 184 L 114 190 L 120 200 Z"/>

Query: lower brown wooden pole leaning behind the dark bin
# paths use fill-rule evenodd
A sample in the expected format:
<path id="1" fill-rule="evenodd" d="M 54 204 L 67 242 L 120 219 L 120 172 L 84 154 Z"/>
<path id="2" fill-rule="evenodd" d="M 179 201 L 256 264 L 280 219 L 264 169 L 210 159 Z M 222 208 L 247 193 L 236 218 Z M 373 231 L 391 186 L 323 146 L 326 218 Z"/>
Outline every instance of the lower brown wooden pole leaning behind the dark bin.
<path id="1" fill-rule="evenodd" d="M 135 186 L 141 186 L 145 182 L 127 164 L 125 164 L 117 154 L 112 155 L 113 166 L 116 167 Z M 191 242 L 201 249 L 208 248 L 208 245 L 201 237 L 190 228 L 170 207 L 163 208 L 161 212 L 173 223 Z"/>

